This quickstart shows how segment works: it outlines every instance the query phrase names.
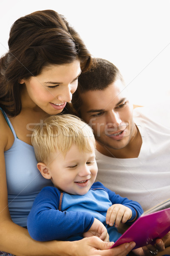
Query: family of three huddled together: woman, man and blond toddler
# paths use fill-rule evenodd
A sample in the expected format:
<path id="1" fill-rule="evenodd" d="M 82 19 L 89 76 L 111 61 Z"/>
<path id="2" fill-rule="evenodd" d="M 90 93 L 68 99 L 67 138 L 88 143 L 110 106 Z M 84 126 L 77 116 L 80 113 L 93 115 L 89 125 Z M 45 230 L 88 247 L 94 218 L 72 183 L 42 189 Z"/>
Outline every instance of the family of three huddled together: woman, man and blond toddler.
<path id="1" fill-rule="evenodd" d="M 21 17 L 0 58 L 0 255 L 170 255 L 170 234 L 110 249 L 169 198 L 168 103 L 133 109 L 117 67 L 64 16 Z M 163 115 L 166 115 L 163 119 Z"/>

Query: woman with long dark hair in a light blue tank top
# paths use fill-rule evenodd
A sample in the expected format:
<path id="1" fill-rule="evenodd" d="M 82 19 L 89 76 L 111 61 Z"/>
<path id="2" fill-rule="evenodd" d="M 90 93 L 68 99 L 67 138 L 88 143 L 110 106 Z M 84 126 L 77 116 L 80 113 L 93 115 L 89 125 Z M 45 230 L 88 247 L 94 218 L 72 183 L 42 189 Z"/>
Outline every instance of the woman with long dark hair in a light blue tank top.
<path id="1" fill-rule="evenodd" d="M 68 110 L 91 55 L 62 15 L 34 12 L 11 27 L 9 51 L 0 59 L 0 255 L 126 255 L 134 243 L 108 249 L 97 237 L 38 242 L 26 229 L 37 193 L 49 185 L 37 171 L 31 132 L 49 115 Z M 8 253 L 3 253 L 6 251 Z"/>

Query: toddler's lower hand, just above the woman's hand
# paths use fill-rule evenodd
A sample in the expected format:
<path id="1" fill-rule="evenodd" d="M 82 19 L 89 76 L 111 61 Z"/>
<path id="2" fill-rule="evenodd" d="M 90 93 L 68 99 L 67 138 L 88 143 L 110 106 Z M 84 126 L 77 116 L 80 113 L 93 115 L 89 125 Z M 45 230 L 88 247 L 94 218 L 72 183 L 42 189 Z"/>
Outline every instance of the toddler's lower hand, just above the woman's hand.
<path id="1" fill-rule="evenodd" d="M 98 236 L 103 241 L 109 242 L 109 235 L 106 227 L 102 224 L 101 221 L 96 218 L 94 218 L 94 222 L 91 225 L 90 229 L 87 232 L 83 233 L 83 236 Z"/>

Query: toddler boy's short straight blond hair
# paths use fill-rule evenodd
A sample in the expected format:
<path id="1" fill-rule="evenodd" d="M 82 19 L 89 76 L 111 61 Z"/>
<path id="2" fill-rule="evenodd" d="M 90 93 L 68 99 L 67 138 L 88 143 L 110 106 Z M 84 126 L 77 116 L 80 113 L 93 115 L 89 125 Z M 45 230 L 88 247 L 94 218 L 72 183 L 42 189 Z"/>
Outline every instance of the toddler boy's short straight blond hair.
<path id="1" fill-rule="evenodd" d="M 64 156 L 75 144 L 79 151 L 91 152 L 95 146 L 91 127 L 79 117 L 65 114 L 50 116 L 34 127 L 32 145 L 38 162 L 48 163 L 56 150 Z"/>

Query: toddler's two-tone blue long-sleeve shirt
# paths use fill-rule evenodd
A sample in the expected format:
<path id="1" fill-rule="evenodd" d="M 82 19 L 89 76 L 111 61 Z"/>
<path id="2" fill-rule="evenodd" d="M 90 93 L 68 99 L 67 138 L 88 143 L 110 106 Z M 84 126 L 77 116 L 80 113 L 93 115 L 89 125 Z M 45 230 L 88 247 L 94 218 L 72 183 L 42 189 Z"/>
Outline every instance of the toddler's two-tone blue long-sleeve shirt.
<path id="1" fill-rule="evenodd" d="M 107 227 L 110 241 L 116 241 L 121 234 L 105 221 L 112 204 L 123 204 L 132 210 L 132 217 L 127 221 L 130 224 L 143 212 L 139 203 L 116 195 L 99 182 L 85 195 L 71 195 L 47 186 L 34 200 L 27 220 L 28 232 L 38 241 L 78 240 L 97 218 Z"/>

